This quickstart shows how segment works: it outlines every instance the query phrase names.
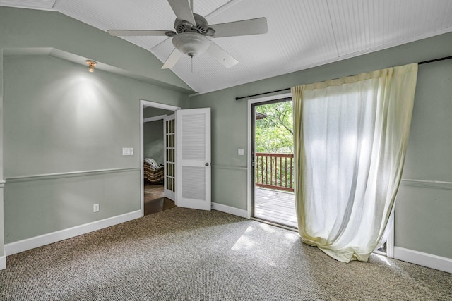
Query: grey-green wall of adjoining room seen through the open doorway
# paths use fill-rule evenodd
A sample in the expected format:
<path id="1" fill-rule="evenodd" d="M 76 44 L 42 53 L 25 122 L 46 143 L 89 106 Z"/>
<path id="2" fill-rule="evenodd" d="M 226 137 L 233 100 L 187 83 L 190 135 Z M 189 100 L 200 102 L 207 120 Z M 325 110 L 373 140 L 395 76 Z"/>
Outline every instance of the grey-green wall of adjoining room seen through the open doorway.
<path id="1" fill-rule="evenodd" d="M 163 163 L 163 120 L 146 122 L 143 125 L 144 158 Z"/>

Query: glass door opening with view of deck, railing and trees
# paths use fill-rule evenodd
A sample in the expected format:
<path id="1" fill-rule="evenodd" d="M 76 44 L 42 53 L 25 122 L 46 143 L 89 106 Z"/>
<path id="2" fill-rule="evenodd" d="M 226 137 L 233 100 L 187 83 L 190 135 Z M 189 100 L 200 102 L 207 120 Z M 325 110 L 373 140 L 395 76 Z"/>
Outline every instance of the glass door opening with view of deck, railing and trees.
<path id="1" fill-rule="evenodd" d="M 251 103 L 251 218 L 297 229 L 292 98 Z"/>

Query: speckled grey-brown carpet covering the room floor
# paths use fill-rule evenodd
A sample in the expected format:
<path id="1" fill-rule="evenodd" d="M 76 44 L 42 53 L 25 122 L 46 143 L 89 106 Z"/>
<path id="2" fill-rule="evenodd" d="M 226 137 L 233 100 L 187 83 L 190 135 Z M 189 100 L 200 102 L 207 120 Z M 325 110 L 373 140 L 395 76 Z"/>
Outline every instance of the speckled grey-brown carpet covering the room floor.
<path id="1" fill-rule="evenodd" d="M 7 258 L 0 300 L 451 300 L 451 274 L 344 264 L 297 233 L 173 208 Z"/>

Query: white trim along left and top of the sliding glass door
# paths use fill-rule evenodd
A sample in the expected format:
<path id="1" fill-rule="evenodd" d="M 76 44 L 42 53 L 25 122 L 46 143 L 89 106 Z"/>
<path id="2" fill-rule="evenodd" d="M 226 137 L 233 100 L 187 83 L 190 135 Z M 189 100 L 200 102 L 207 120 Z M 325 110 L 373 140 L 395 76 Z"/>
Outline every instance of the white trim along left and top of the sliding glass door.
<path id="1" fill-rule="evenodd" d="M 246 176 L 246 199 L 248 199 L 248 202 L 246 204 L 246 211 L 247 211 L 247 218 L 251 219 L 251 104 L 256 104 L 258 102 L 268 102 L 270 100 L 276 100 L 276 99 L 282 99 L 292 97 L 291 93 L 284 93 L 284 94 L 278 94 L 278 95 L 271 95 L 266 97 L 258 97 L 255 99 L 248 99 L 248 152 L 246 154 L 246 169 L 247 169 L 247 176 Z"/>

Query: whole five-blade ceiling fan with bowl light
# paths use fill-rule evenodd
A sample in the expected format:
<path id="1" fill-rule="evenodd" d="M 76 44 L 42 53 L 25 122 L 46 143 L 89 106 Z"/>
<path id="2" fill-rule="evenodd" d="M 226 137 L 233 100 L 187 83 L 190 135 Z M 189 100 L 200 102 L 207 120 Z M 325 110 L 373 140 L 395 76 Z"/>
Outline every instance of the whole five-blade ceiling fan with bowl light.
<path id="1" fill-rule="evenodd" d="M 239 35 L 258 35 L 267 32 L 267 19 L 256 18 L 230 23 L 209 25 L 207 20 L 192 12 L 193 0 L 167 0 L 176 14 L 175 32 L 172 30 L 107 30 L 114 36 L 166 36 L 172 37 L 176 47 L 162 69 L 172 68 L 182 54 L 193 58 L 207 52 L 220 61 L 226 68 L 234 66 L 238 61 L 224 49 L 215 44 L 214 37 L 235 37 Z"/>

